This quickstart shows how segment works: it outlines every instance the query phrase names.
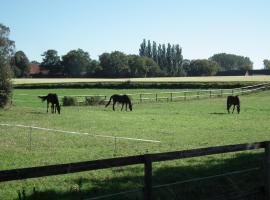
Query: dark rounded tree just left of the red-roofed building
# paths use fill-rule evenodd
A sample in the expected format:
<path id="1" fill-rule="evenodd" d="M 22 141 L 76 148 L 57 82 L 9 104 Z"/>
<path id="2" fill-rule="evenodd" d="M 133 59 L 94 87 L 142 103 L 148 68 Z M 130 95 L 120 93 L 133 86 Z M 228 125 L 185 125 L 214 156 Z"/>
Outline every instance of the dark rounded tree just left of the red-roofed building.
<path id="1" fill-rule="evenodd" d="M 11 68 L 15 77 L 26 77 L 29 75 L 30 62 L 23 51 L 17 51 L 11 58 Z"/>

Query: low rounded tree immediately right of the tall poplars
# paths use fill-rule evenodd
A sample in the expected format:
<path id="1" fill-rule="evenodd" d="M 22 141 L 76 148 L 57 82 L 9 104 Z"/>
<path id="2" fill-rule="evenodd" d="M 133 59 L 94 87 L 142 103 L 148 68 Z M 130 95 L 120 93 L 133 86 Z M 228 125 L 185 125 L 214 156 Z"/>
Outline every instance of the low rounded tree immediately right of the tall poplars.
<path id="1" fill-rule="evenodd" d="M 219 70 L 219 65 L 211 60 L 192 60 L 187 69 L 188 76 L 212 76 Z"/>

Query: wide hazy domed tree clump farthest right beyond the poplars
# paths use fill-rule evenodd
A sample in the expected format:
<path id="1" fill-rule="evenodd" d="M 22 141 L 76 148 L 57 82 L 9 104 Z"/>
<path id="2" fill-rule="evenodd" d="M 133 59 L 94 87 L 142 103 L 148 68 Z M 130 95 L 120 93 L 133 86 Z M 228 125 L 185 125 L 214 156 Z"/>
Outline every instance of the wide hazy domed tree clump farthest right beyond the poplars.
<path id="1" fill-rule="evenodd" d="M 234 54 L 215 54 L 211 58 L 209 58 L 209 60 L 217 62 L 220 65 L 222 71 L 251 70 L 253 68 L 253 63 L 248 57 L 238 56 Z"/>

